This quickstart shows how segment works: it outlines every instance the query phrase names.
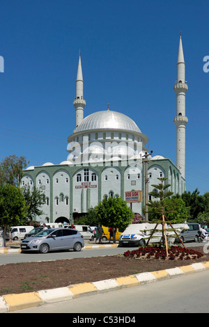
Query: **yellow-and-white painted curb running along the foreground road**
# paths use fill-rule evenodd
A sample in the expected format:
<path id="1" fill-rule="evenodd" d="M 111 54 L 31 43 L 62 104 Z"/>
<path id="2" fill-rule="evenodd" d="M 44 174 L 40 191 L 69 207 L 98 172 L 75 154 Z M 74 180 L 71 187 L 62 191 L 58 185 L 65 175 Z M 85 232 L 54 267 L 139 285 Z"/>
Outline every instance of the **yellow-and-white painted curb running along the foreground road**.
<path id="1" fill-rule="evenodd" d="M 138 273 L 126 277 L 101 280 L 100 282 L 84 282 L 82 284 L 69 285 L 67 287 L 56 289 L 45 289 L 38 292 L 3 295 L 0 296 L 0 313 L 33 308 L 45 303 L 72 300 L 73 298 L 86 296 L 88 294 L 96 294 L 124 287 L 143 285 L 148 282 L 156 282 L 157 280 L 183 276 L 188 273 L 205 271 L 206 269 L 209 269 L 209 262 L 198 262 L 190 264 L 189 266 L 181 266 L 148 273 Z"/>

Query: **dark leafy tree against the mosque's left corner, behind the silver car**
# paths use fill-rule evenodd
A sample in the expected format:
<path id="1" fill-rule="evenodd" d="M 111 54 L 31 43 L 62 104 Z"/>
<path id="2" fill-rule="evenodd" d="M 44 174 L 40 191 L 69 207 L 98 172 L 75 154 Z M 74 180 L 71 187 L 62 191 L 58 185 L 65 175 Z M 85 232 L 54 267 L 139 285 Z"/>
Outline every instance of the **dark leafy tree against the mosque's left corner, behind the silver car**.
<path id="1" fill-rule="evenodd" d="M 22 193 L 26 201 L 27 219 L 33 221 L 35 215 L 40 216 L 41 214 L 44 214 L 44 212 L 40 210 L 40 206 L 45 203 L 43 198 L 44 193 L 42 193 L 40 189 L 33 187 L 33 190 L 31 191 L 30 186 L 26 185 L 22 187 Z"/>

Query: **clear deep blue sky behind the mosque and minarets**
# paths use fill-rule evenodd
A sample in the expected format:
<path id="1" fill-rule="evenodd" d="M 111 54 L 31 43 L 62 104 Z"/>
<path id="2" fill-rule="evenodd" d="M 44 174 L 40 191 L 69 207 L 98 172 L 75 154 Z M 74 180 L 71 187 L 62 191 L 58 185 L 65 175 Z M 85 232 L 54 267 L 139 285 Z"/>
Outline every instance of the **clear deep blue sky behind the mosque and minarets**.
<path id="1" fill-rule="evenodd" d="M 84 116 L 120 111 L 149 138 L 153 155 L 176 163 L 176 61 L 186 63 L 187 191 L 208 191 L 209 2 L 194 0 L 1 1 L 0 160 L 61 163 L 75 128 L 79 49 Z"/>

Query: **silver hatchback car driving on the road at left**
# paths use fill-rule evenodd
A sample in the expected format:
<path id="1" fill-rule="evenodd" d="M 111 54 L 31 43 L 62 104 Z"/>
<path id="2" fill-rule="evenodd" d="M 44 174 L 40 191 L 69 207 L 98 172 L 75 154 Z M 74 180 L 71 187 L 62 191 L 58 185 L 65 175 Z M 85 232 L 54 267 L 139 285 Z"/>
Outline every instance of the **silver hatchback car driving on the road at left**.
<path id="1" fill-rule="evenodd" d="M 56 250 L 80 251 L 84 247 L 84 237 L 77 230 L 50 228 L 42 230 L 33 237 L 27 237 L 20 244 L 22 252 L 38 251 L 48 253 Z"/>

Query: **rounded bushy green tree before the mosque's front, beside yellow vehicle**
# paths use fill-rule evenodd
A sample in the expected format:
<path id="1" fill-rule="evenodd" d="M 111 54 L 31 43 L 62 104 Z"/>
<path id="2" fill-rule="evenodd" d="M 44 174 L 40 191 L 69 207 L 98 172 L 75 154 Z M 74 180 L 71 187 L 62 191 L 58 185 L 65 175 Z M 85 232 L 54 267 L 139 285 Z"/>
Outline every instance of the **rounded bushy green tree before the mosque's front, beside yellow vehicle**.
<path id="1" fill-rule="evenodd" d="M 132 209 L 121 198 L 104 198 L 95 207 L 100 224 L 109 228 L 127 228 L 133 219 Z M 113 234 L 115 242 L 115 232 Z"/>

